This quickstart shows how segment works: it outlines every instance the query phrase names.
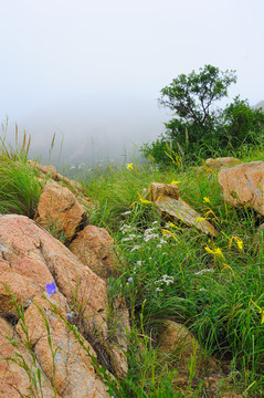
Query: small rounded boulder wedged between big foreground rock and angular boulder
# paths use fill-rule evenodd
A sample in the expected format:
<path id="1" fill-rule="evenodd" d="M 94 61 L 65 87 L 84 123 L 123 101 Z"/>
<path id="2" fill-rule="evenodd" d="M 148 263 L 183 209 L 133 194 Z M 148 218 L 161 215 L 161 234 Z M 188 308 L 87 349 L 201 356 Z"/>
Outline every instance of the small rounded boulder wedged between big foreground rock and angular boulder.
<path id="1" fill-rule="evenodd" d="M 68 249 L 98 276 L 108 279 L 117 263 L 114 239 L 104 228 L 87 226 L 77 233 Z"/>

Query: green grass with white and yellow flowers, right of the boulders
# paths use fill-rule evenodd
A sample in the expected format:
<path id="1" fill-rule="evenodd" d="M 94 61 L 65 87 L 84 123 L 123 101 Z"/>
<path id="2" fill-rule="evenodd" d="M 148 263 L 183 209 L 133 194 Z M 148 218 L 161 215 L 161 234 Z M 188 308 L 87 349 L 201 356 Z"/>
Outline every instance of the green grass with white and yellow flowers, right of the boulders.
<path id="1" fill-rule="evenodd" d="M 258 154 L 247 154 L 245 159 L 258 160 Z M 218 238 L 196 228 L 165 226 L 154 207 L 139 200 L 151 181 L 172 180 L 181 181 L 182 199 L 203 217 L 208 213 L 207 219 L 220 232 Z M 120 283 L 126 286 L 133 277 L 130 292 L 123 293 L 136 324 L 142 314 L 154 347 L 157 349 L 165 320 L 183 323 L 199 339 L 204 355 L 229 363 L 237 390 L 245 397 L 264 396 L 264 324 L 260 314 L 264 308 L 263 245 L 256 234 L 262 217 L 251 209 L 225 205 L 217 175 L 193 167 L 186 172 L 142 165 L 134 165 L 133 170 L 123 167 L 91 177 L 87 193 L 96 203 L 89 214 L 92 222 L 110 231 L 119 248 Z M 165 235 L 165 228 L 176 239 Z M 149 229 L 152 238 L 146 240 Z M 243 242 L 242 250 L 237 241 Z M 223 258 L 207 252 L 205 247 L 212 251 L 220 248 Z M 137 394 L 130 396 L 140 396 Z"/>

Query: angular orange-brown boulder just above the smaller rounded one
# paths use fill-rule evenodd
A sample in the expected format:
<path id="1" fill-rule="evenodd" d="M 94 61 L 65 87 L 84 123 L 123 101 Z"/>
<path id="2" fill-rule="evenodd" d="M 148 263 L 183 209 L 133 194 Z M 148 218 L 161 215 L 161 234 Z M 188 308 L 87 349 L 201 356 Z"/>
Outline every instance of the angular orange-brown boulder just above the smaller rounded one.
<path id="1" fill-rule="evenodd" d="M 87 213 L 70 189 L 54 181 L 43 188 L 34 220 L 52 230 L 62 241 L 70 241 L 87 222 Z"/>

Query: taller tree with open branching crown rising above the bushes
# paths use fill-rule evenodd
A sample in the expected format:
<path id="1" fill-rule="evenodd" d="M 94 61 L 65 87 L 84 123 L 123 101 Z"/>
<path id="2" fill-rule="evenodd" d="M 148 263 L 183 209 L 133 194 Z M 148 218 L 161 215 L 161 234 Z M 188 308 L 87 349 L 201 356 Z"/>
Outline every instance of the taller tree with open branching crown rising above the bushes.
<path id="1" fill-rule="evenodd" d="M 228 96 L 228 88 L 236 82 L 234 71 L 221 72 L 218 67 L 205 65 L 200 73 L 180 74 L 169 86 L 160 91 L 159 104 L 169 107 L 176 115 L 166 123 L 167 135 L 179 144 L 199 142 L 204 134 L 212 132 L 218 122 L 218 112 L 212 105 Z"/>

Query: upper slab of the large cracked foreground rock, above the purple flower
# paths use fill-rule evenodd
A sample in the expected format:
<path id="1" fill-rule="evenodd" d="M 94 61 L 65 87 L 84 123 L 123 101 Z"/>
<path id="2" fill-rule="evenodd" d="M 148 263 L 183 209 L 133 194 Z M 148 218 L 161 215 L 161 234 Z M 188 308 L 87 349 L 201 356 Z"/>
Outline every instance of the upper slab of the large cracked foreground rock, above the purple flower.
<path id="1" fill-rule="evenodd" d="M 107 290 L 105 282 L 47 231 L 23 216 L 0 216 L 1 281 L 29 305 L 55 283 L 70 305 L 80 312 L 88 331 L 107 332 Z M 15 314 L 10 293 L 0 284 L 0 312 Z"/>

